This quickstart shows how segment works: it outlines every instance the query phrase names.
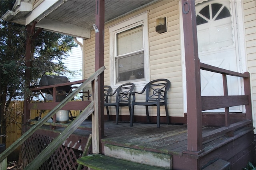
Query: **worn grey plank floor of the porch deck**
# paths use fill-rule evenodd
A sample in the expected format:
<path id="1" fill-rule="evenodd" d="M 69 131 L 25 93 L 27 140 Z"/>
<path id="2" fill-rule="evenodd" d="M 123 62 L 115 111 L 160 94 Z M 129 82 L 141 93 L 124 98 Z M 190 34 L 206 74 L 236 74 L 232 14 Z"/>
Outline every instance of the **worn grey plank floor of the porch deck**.
<path id="1" fill-rule="evenodd" d="M 202 127 L 202 135 L 218 128 Z M 105 122 L 106 136 L 102 139 L 102 143 L 182 156 L 183 151 L 187 150 L 187 131 L 187 125 L 162 124 L 160 128 L 156 128 L 156 124 L 134 123 L 134 126 L 130 127 L 130 123 L 121 122 L 115 125 L 115 122 Z M 246 127 L 235 131 L 234 136 L 240 137 L 248 131 L 252 131 L 252 128 Z M 204 156 L 232 140 L 233 137 L 221 135 L 204 141 L 204 152 L 195 157 Z"/>

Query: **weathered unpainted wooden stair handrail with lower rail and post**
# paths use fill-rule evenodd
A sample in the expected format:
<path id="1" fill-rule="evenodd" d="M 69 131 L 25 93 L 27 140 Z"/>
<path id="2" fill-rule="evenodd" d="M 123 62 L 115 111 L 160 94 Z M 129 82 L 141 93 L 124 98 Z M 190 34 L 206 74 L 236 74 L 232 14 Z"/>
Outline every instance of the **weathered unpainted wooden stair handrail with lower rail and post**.
<path id="1" fill-rule="evenodd" d="M 92 76 L 90 76 L 88 79 L 86 79 L 74 92 L 72 92 L 70 95 L 68 95 L 62 102 L 59 102 L 46 116 L 44 116 L 38 123 L 33 125 L 30 129 L 28 129 L 17 141 L 15 141 L 10 147 L 8 147 L 3 153 L 0 155 L 1 162 L 4 160 L 11 152 L 13 152 L 14 149 L 16 149 L 18 146 L 20 146 L 26 139 L 28 139 L 34 132 L 36 132 L 50 117 L 56 114 L 56 112 L 60 109 L 62 109 L 68 102 L 74 98 L 78 92 L 83 90 L 86 86 L 89 84 L 92 84 L 92 99 L 95 99 L 98 95 L 98 76 L 105 70 L 105 67 L 102 66 L 100 69 L 98 69 Z M 71 82 L 72 84 L 73 82 Z M 63 85 L 63 84 L 62 84 Z M 66 84 L 65 84 L 66 85 Z M 54 85 L 55 86 L 55 85 Z M 44 87 L 45 88 L 45 87 Z M 54 88 L 54 87 L 53 87 Z M 37 89 L 38 90 L 38 89 Z M 72 102 L 75 103 L 75 102 Z M 80 125 L 81 123 L 94 112 L 94 116 L 92 118 L 92 126 L 98 127 L 98 110 L 95 109 L 95 107 L 98 106 L 97 100 L 92 100 L 88 106 L 84 106 L 85 108 L 82 110 L 82 112 L 78 115 L 74 121 L 72 121 L 68 127 L 62 131 L 56 137 L 50 145 L 48 145 L 36 158 L 26 166 L 26 169 L 38 169 L 40 165 L 46 161 L 49 156 L 56 150 Z M 34 109 L 34 108 L 33 108 Z M 46 108 L 45 108 L 46 109 Z M 97 136 L 98 134 L 98 128 L 95 128 L 92 131 L 92 134 Z M 99 153 L 99 140 L 93 139 L 93 151 L 95 153 Z M 96 151 L 95 151 L 96 150 Z"/>

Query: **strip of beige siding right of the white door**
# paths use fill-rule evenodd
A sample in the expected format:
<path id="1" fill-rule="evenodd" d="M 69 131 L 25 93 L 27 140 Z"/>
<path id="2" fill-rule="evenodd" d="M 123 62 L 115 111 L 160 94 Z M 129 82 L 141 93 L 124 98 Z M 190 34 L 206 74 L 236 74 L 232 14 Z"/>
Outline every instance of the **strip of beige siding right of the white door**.
<path id="1" fill-rule="evenodd" d="M 256 1 L 243 1 L 247 69 L 251 73 L 252 111 L 256 126 Z M 256 131 L 254 131 L 256 133 Z"/>

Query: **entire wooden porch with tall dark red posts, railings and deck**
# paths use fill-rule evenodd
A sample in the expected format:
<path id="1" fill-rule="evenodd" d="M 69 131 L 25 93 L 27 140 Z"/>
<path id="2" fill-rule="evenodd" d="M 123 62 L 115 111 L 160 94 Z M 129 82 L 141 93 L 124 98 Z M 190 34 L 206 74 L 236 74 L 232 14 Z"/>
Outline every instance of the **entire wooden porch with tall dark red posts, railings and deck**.
<path id="1" fill-rule="evenodd" d="M 50 117 L 54 116 L 56 111 L 62 107 L 68 108 L 68 104 L 70 104 L 70 106 L 74 106 L 74 102 L 69 101 L 76 94 L 71 94 L 61 103 L 54 102 L 54 105 L 50 108 L 52 111 L 50 111 L 42 121 L 38 121 L 38 123 L 33 125 L 28 131 L 24 131 L 24 137 L 14 143 L 6 152 L 1 154 L 1 161 L 2 158 L 8 155 L 8 152 L 10 152 L 11 149 L 20 145 L 24 141 L 28 141 L 25 146 L 28 146 L 30 143 L 32 143 L 30 145 L 33 145 L 33 142 L 36 139 L 34 136 L 44 135 L 42 138 L 48 140 L 52 145 L 48 145 L 47 149 L 44 149 L 48 143 L 43 143 L 44 146 L 41 146 L 42 150 L 39 150 L 38 157 L 35 156 L 35 159 L 30 155 L 31 160 L 28 161 L 28 166 L 24 165 L 26 166 L 26 169 L 38 169 L 41 166 L 41 163 L 50 157 L 48 156 L 52 154 L 50 152 L 54 152 L 56 149 L 60 154 L 54 154 L 54 156 L 51 156 L 51 163 L 47 162 L 48 166 L 46 167 L 54 167 L 55 169 L 72 169 L 77 166 L 76 159 L 73 160 L 72 157 L 75 153 L 71 152 L 70 149 L 67 148 L 71 147 L 70 142 L 74 142 L 72 144 L 73 148 L 80 151 L 84 150 L 89 133 L 93 134 L 92 153 L 100 153 L 114 157 L 115 154 L 113 152 L 107 152 L 107 150 L 110 151 L 111 146 L 116 150 L 128 148 L 142 150 L 144 152 L 156 152 L 169 155 L 169 169 L 203 169 L 217 159 L 229 161 L 232 169 L 241 169 L 242 166 L 245 166 L 244 162 L 252 160 L 254 158 L 254 140 L 252 131 L 252 105 L 249 73 L 245 72 L 242 74 L 232 72 L 200 63 L 197 53 L 197 39 L 193 36 L 196 35 L 196 20 L 195 14 L 193 13 L 195 11 L 193 1 L 182 1 L 188 111 L 188 113 L 185 113 L 187 116 L 185 123 L 187 126 L 161 125 L 160 128 L 156 128 L 155 124 L 150 125 L 136 123 L 134 124 L 134 127 L 129 127 L 128 123 L 120 123 L 121 126 L 116 126 L 114 123 L 108 126 L 108 123 L 112 122 L 105 122 L 106 124 L 104 124 L 104 74 L 103 70 L 99 69 L 100 66 L 104 65 L 104 50 L 102 50 L 104 49 L 104 41 L 102 41 L 104 39 L 104 34 L 102 34 L 104 32 L 104 17 L 100 17 L 104 16 L 104 2 L 97 1 L 97 3 L 97 11 L 100 11 L 100 13 L 97 13 L 96 15 L 96 25 L 100 31 L 99 33 L 96 33 L 95 37 L 95 70 L 98 70 L 98 74 L 95 74 L 93 78 L 88 78 L 86 80 L 87 82 L 85 84 L 83 83 L 83 86 L 75 90 L 78 93 L 92 82 L 92 102 L 88 107 L 86 107 L 85 102 L 81 102 L 77 105 L 76 109 L 84 110 L 81 113 L 81 120 L 79 122 L 73 121 L 74 123 L 70 123 L 72 126 L 70 126 L 68 130 L 65 129 L 60 133 L 58 129 L 62 129 L 62 126 L 65 125 L 57 127 L 57 124 L 52 124 L 54 126 L 53 128 L 47 125 L 48 129 L 38 129 L 38 131 L 36 131 L 38 127 L 44 124 Z M 35 25 L 36 23 L 34 23 L 33 26 Z M 200 69 L 222 74 L 224 89 L 223 96 L 201 96 Z M 237 76 L 243 78 L 244 95 L 228 95 L 226 76 Z M 65 106 L 65 104 L 67 105 Z M 24 108 L 24 121 L 26 121 L 26 119 L 30 119 L 30 109 L 45 109 L 45 106 L 42 104 L 41 106 L 38 105 L 38 107 L 33 107 L 26 103 Z M 232 114 L 229 112 L 229 107 L 232 106 L 245 107 L 246 113 L 238 114 L 241 115 L 241 117 L 239 117 L 237 121 L 232 120 Z M 207 117 L 207 115 L 202 115 L 202 111 L 218 108 L 225 108 L 225 113 L 223 114 L 224 119 L 221 119 L 223 122 L 221 125 L 224 127 L 205 127 L 202 119 L 204 118 L 203 116 Z M 78 127 L 80 128 L 80 122 L 84 123 L 84 119 L 86 119 L 92 112 L 94 112 L 92 114 L 92 129 L 94 130 L 92 130 L 92 132 L 88 129 L 75 130 Z M 219 123 L 217 116 L 214 118 L 211 117 L 211 119 L 209 119 L 209 117 L 207 118 L 208 122 L 212 123 L 211 125 L 216 126 L 217 124 L 214 123 Z M 172 120 L 172 117 L 170 117 L 170 119 Z M 87 125 L 89 125 L 90 129 L 90 124 Z M 70 137 L 70 134 L 64 133 L 73 130 L 74 133 L 71 134 Z M 34 133 L 35 131 L 36 133 Z M 76 135 L 75 132 L 80 132 L 80 134 Z M 51 136 L 49 140 L 48 134 L 54 134 L 54 136 Z M 33 138 L 31 140 L 30 137 L 32 137 L 32 135 Z M 162 138 L 160 139 L 160 137 Z M 26 140 L 27 138 L 28 140 Z M 52 141 L 52 139 L 55 140 Z M 58 142 L 58 140 L 60 140 L 60 142 Z M 42 144 L 42 141 L 39 141 L 39 143 Z M 29 150 L 26 150 L 25 147 L 24 152 L 26 151 Z M 30 153 L 31 152 L 32 151 L 30 151 Z M 81 152 L 79 152 L 78 157 L 80 154 Z M 128 154 L 126 154 L 126 156 L 129 157 Z M 63 159 L 56 161 L 56 158 Z M 144 158 L 144 156 L 141 155 L 140 158 Z M 75 162 L 75 165 L 70 167 L 70 162 L 67 160 L 72 160 L 72 162 Z M 53 164 L 56 164 L 56 166 L 53 166 Z M 59 165 L 61 167 L 59 167 Z M 156 163 L 153 165 L 157 166 Z"/>

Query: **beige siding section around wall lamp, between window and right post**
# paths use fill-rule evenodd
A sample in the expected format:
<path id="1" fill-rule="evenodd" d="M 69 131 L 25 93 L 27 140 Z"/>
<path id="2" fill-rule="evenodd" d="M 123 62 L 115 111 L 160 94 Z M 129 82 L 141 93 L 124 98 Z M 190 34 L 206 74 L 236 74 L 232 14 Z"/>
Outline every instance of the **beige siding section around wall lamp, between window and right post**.
<path id="1" fill-rule="evenodd" d="M 164 4 L 165 3 L 165 4 Z M 158 5 L 158 4 L 156 4 Z M 165 1 L 150 9 L 148 14 L 150 79 L 167 78 L 171 82 L 168 109 L 171 116 L 183 116 L 182 65 L 178 1 Z M 166 17 L 167 33 L 155 31 L 156 18 Z M 144 108 L 143 108 L 144 109 Z M 152 111 L 156 112 L 155 108 Z M 162 108 L 161 115 L 165 115 Z"/>

